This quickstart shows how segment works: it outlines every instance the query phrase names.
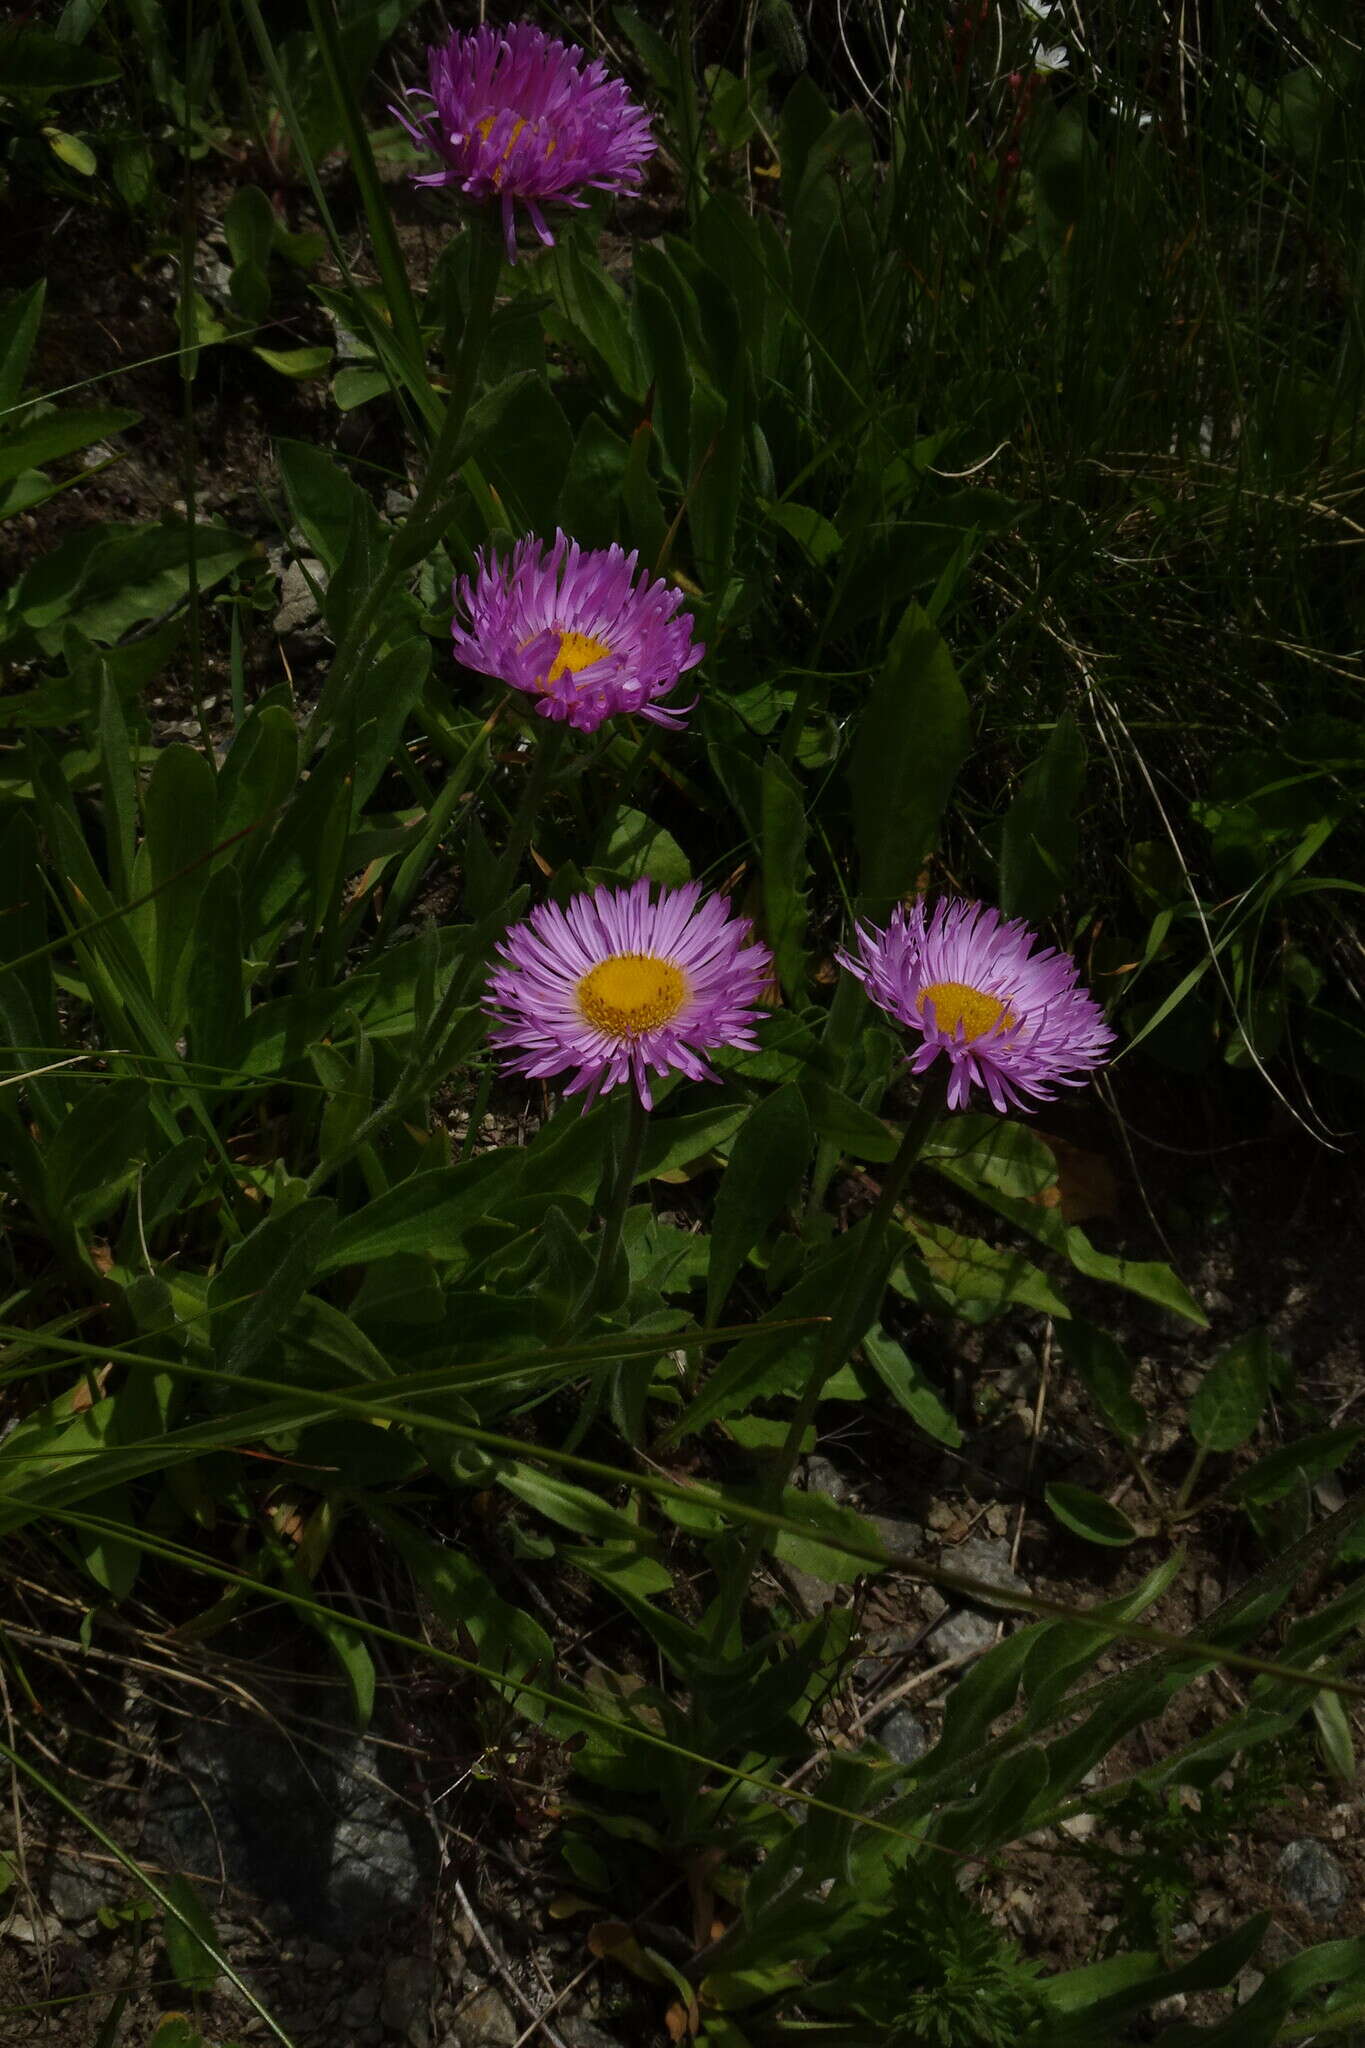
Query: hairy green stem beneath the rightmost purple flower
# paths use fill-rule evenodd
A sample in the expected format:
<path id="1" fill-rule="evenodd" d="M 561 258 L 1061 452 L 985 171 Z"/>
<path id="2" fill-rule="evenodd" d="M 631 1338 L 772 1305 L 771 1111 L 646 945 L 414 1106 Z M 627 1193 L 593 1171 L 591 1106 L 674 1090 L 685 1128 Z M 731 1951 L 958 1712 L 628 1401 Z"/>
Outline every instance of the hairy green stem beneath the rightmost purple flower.
<path id="1" fill-rule="evenodd" d="M 796 1468 L 796 1458 L 800 1456 L 800 1446 L 804 1442 L 806 1430 L 814 1421 L 814 1411 L 821 1405 L 821 1395 L 833 1380 L 839 1366 L 847 1362 L 849 1352 L 857 1343 L 862 1331 L 868 1327 L 870 1313 L 876 1311 L 874 1294 L 886 1284 L 884 1253 L 886 1237 L 890 1233 L 896 1202 L 905 1192 L 905 1184 L 911 1178 L 919 1155 L 923 1153 L 943 1108 L 948 1106 L 948 1073 L 939 1063 L 931 1069 L 921 1092 L 919 1102 L 911 1112 L 911 1120 L 905 1126 L 900 1147 L 896 1157 L 886 1167 L 886 1178 L 882 1180 L 882 1192 L 878 1196 L 876 1208 L 868 1219 L 868 1231 L 862 1243 L 862 1251 L 853 1272 L 845 1280 L 833 1309 L 829 1323 L 825 1327 L 825 1339 L 821 1343 L 814 1370 L 806 1380 L 800 1401 L 788 1423 L 786 1438 L 782 1440 L 782 1450 L 774 1458 L 765 1483 L 761 1489 L 759 1505 L 765 1513 L 778 1513 L 782 1509 L 782 1495 L 786 1493 L 792 1473 Z M 745 1546 L 739 1554 L 735 1571 L 729 1573 L 724 1585 L 720 1587 L 720 1599 L 716 1606 L 716 1624 L 712 1640 L 718 1651 L 724 1651 L 731 1634 L 739 1624 L 739 1616 L 745 1606 L 745 1595 L 749 1593 L 749 1583 L 757 1571 L 759 1556 L 763 1554 L 763 1544 L 767 1540 L 767 1530 L 763 1524 L 753 1524 L 745 1536 Z"/>

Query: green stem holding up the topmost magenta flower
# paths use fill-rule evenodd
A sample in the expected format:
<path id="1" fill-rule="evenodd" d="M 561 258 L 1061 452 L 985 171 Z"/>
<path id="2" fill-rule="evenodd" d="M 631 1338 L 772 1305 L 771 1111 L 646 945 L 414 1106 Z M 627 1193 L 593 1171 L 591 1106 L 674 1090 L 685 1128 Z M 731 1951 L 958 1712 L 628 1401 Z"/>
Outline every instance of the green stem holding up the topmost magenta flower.
<path id="1" fill-rule="evenodd" d="M 436 434 L 432 453 L 428 455 L 422 487 L 417 489 L 413 508 L 407 514 L 401 532 L 393 537 L 383 569 L 375 578 L 366 598 L 358 606 L 356 616 L 338 645 L 336 662 L 332 664 L 332 674 L 327 676 L 327 688 L 323 690 L 317 711 L 309 719 L 305 731 L 305 745 L 313 745 L 321 727 L 336 721 L 344 698 L 354 688 L 354 678 L 364 670 L 375 627 L 379 625 L 379 616 L 389 602 L 393 586 L 405 569 L 415 567 L 415 563 L 432 551 L 448 520 L 450 508 L 442 502 L 442 489 L 458 455 L 469 401 L 473 399 L 475 383 L 479 379 L 483 344 L 487 342 L 489 326 L 493 322 L 497 279 L 501 276 L 501 242 L 497 240 L 493 223 L 475 217 L 467 231 L 475 238 L 469 264 L 469 309 L 450 377 L 446 414 L 440 422 L 440 432 Z"/>

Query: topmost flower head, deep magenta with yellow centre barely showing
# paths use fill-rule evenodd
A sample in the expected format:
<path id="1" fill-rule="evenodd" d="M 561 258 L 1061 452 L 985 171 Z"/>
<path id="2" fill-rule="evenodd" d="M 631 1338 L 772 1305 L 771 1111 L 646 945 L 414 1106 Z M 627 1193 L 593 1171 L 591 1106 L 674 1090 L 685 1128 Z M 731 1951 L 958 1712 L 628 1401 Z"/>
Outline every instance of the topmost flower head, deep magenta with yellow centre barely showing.
<path id="1" fill-rule="evenodd" d="M 512 262 L 516 201 L 551 246 L 542 201 L 583 207 L 583 184 L 632 193 L 655 154 L 649 115 L 620 78 L 526 20 L 456 31 L 428 49 L 428 80 L 430 90 L 413 86 L 403 94 L 407 109 L 393 109 L 413 141 L 444 164 L 415 182 L 458 184 L 471 199 L 501 201 Z"/>

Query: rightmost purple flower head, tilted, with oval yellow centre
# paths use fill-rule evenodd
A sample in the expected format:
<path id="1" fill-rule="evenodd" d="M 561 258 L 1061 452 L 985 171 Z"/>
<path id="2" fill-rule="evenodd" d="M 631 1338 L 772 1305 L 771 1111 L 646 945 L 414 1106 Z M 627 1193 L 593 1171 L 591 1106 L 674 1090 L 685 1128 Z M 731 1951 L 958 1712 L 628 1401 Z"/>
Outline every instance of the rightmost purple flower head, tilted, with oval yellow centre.
<path id="1" fill-rule="evenodd" d="M 839 954 L 874 1004 L 921 1036 L 911 1069 L 939 1053 L 950 1061 L 948 1106 L 960 1110 L 984 1087 L 1001 1114 L 1025 1096 L 1050 1102 L 1078 1087 L 1113 1044 L 1093 995 L 1076 987 L 1076 963 L 1021 920 L 982 903 L 943 901 L 925 915 L 896 905 L 884 932 L 857 928 L 857 952 Z"/>

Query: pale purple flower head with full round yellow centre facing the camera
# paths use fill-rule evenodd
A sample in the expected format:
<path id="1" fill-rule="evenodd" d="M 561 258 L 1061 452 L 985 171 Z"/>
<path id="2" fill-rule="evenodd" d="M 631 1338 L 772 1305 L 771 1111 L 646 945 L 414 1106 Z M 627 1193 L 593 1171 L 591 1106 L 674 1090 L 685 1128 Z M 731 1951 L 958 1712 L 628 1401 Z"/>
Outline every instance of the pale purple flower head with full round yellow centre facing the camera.
<path id="1" fill-rule="evenodd" d="M 749 920 L 698 883 L 593 889 L 565 909 L 540 903 L 497 946 L 487 981 L 493 1044 L 514 1073 L 573 1073 L 587 1104 L 632 1081 L 653 1108 L 649 1069 L 714 1081 L 706 1053 L 753 1049 L 755 1001 L 772 975 Z M 587 1106 L 585 1104 L 585 1106 Z"/>

